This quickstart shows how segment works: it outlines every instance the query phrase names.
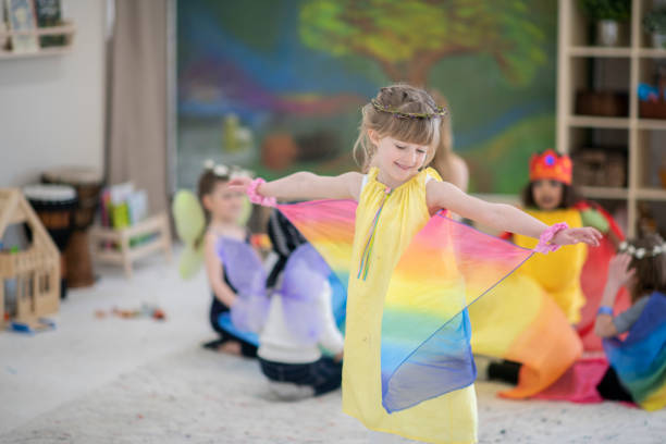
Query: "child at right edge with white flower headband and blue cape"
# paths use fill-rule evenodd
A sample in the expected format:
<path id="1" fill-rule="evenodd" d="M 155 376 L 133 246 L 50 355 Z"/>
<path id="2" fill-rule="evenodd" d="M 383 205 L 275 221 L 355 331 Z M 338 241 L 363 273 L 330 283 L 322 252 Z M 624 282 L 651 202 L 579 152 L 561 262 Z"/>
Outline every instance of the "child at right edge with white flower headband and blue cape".
<path id="1" fill-rule="evenodd" d="M 620 287 L 631 307 L 613 316 Z M 604 337 L 610 367 L 596 391 L 605 399 L 634 402 L 648 410 L 666 406 L 666 243 L 656 235 L 622 243 L 610 260 L 594 332 Z M 628 332 L 625 341 L 618 335 Z"/>

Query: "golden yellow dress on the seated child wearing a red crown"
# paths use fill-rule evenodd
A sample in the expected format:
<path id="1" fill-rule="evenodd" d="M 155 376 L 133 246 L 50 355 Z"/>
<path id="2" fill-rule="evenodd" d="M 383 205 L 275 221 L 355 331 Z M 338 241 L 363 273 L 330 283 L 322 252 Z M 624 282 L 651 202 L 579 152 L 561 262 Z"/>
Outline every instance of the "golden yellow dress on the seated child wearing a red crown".
<path id="1" fill-rule="evenodd" d="M 567 222 L 570 227 L 582 226 L 580 211 L 576 209 L 539 211 L 526 210 L 526 212 L 546 225 L 557 222 Z M 516 245 L 532 249 L 538 240 L 532 237 L 515 235 Z M 528 260 L 517 273 L 532 278 L 562 308 L 571 324 L 580 321 L 580 309 L 585 304 L 585 297 L 580 286 L 580 274 L 582 272 L 588 247 L 584 244 L 567 245 L 555 252 L 547 255 L 534 255 Z"/>

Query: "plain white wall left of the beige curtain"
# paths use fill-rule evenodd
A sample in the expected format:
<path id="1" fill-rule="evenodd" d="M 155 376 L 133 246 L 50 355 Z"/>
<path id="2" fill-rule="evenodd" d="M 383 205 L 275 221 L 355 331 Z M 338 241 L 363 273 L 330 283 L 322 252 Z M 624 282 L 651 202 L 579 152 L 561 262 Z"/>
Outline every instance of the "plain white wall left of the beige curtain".
<path id="1" fill-rule="evenodd" d="M 60 165 L 102 169 L 106 0 L 62 0 L 76 26 L 64 55 L 0 59 L 0 187 Z"/>

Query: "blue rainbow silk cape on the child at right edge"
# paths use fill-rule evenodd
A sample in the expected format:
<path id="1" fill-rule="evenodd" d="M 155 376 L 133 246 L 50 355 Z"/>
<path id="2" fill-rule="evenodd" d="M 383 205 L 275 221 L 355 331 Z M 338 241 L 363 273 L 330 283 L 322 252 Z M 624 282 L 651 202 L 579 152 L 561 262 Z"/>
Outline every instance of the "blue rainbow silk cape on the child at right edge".
<path id="1" fill-rule="evenodd" d="M 666 407 L 666 296 L 653 293 L 621 341 L 604 340 L 610 366 L 633 400 L 645 410 Z"/>

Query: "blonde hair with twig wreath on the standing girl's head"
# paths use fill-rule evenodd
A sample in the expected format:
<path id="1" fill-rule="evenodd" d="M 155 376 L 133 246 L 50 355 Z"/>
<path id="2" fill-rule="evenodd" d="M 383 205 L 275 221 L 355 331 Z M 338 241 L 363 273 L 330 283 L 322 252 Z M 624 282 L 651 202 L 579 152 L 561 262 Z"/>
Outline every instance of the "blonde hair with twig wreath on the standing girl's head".
<path id="1" fill-rule="evenodd" d="M 405 113 L 434 114 L 437 106 L 423 89 L 409 85 L 392 85 L 381 88 L 374 97 L 375 103 Z M 440 144 L 442 118 L 434 115 L 425 119 L 405 119 L 394 113 L 378 110 L 372 102 L 362 109 L 359 135 L 354 144 L 354 159 L 363 172 L 367 172 L 377 147 L 370 140 L 368 132 L 374 131 L 380 137 L 392 137 L 406 144 L 428 146 L 423 166 L 428 165 Z M 445 118 L 444 118 L 445 120 Z"/>

